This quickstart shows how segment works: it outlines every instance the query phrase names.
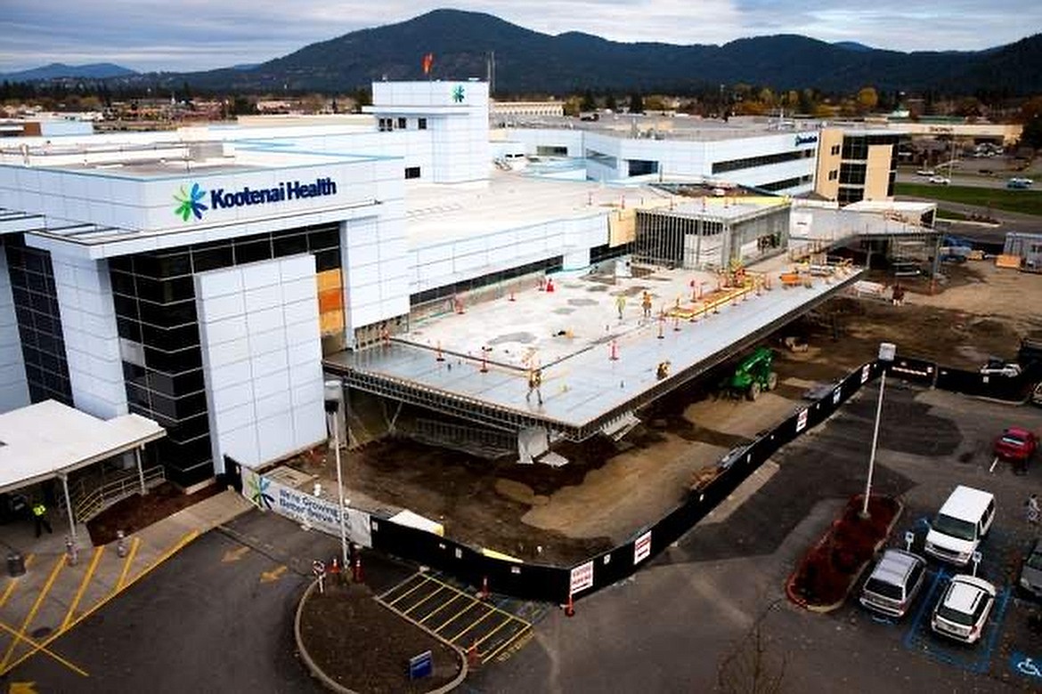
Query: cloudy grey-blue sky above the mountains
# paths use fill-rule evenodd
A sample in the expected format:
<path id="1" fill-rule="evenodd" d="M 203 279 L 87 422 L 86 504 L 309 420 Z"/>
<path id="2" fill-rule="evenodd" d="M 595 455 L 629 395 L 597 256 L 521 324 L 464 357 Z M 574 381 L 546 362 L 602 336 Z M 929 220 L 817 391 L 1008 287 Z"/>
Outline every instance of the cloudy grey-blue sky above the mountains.
<path id="1" fill-rule="evenodd" d="M 1038 0 L 3 0 L 0 72 L 50 62 L 139 72 L 263 62 L 446 6 L 544 33 L 671 44 L 799 33 L 899 51 L 979 50 L 1042 31 Z"/>

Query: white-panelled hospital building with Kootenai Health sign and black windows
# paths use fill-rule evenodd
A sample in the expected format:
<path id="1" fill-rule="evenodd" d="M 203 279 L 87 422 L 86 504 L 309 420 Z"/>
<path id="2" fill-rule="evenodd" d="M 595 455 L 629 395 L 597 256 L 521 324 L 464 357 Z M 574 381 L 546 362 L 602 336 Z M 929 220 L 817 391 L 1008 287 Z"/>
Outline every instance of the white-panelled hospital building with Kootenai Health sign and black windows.
<path id="1" fill-rule="evenodd" d="M 168 436 L 147 462 L 182 486 L 225 456 L 265 465 L 325 438 L 324 356 L 430 302 L 625 252 L 625 197 L 668 195 L 634 184 L 813 185 L 815 143 L 796 133 L 517 130 L 531 154 L 584 158 L 594 182 L 493 174 L 487 83 L 376 82 L 373 101 L 369 128 L 0 147 L 0 411 L 53 399 L 155 419 Z"/>

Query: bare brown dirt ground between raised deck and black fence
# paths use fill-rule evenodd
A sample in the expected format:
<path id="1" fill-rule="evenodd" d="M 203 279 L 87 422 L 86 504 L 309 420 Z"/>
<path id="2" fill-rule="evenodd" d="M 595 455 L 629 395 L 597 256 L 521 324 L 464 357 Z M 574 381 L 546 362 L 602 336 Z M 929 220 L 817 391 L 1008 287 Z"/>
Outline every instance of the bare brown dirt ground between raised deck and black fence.
<path id="1" fill-rule="evenodd" d="M 1020 336 L 1042 331 L 1042 275 L 989 261 L 946 265 L 944 273 L 946 281 L 933 287 L 926 278 L 901 278 L 902 306 L 837 298 L 779 331 L 772 338 L 779 387 L 754 403 L 715 396 L 724 368 L 639 412 L 644 423 L 620 444 L 555 446 L 570 461 L 560 468 L 383 439 L 345 457 L 346 486 L 439 520 L 447 536 L 474 546 L 526 561 L 576 561 L 654 522 L 684 498 L 698 469 L 791 414 L 808 388 L 874 359 L 879 342 L 896 343 L 899 355 L 974 368 L 991 355 L 1012 359 Z M 874 271 L 867 279 L 894 282 Z M 786 350 L 787 336 L 809 350 Z M 334 478 L 324 455 L 293 464 Z"/>

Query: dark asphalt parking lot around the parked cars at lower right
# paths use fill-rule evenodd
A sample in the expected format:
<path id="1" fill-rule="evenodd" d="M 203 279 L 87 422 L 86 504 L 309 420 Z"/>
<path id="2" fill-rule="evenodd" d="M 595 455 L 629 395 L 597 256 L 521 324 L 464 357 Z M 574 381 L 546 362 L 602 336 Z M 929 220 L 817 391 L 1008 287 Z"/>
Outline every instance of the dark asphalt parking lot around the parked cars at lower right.
<path id="1" fill-rule="evenodd" d="M 961 571 L 929 562 L 912 611 L 899 620 L 864 610 L 857 590 L 828 614 L 797 608 L 783 586 L 845 498 L 864 488 L 876 390 L 787 446 L 771 475 L 750 479 L 742 499 L 624 585 L 581 600 L 576 617 L 551 613 L 508 662 L 479 673 L 473 691 L 753 691 L 774 675 L 780 691 L 1007 691 L 1042 685 L 1042 645 L 1029 619 L 1039 610 L 1014 584 L 1037 528 L 1023 503 L 1042 492 L 1042 460 L 1026 475 L 999 464 L 991 441 L 1006 426 L 1042 430 L 1042 409 L 1013 407 L 888 384 L 874 488 L 904 512 L 891 543 L 915 533 L 958 484 L 991 491 L 997 511 L 981 545 L 978 573 L 998 598 L 982 640 L 963 645 L 934 634 L 931 611 Z M 971 571 L 972 567 L 966 569 Z M 867 572 L 866 574 L 867 575 Z M 697 657 L 694 657 L 697 654 Z M 549 679 L 547 679 L 549 677 Z M 567 683 L 567 685 L 565 684 Z"/>

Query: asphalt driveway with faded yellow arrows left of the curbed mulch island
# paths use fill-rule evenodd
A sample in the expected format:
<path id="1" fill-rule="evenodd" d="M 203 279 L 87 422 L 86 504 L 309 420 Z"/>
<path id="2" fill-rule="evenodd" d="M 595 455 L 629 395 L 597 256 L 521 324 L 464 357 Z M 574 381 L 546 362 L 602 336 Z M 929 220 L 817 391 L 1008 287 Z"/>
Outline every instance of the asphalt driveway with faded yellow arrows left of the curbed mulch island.
<path id="1" fill-rule="evenodd" d="M 6 677 L 36 692 L 325 690 L 295 656 L 293 617 L 314 558 L 339 542 L 251 511 L 202 536 Z M 373 558 L 367 582 L 390 587 L 411 567 Z M 4 690 L 7 691 L 7 690 Z"/>

